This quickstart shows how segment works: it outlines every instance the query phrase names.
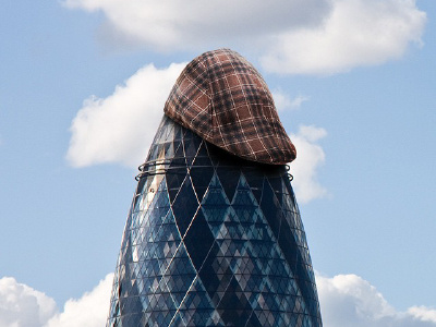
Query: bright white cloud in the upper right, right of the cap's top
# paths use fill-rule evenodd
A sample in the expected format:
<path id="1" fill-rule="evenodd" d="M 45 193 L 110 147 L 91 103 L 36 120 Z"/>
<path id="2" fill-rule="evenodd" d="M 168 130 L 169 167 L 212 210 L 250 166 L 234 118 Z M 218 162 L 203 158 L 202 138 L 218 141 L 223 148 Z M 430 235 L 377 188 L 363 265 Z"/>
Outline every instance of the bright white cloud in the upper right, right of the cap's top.
<path id="1" fill-rule="evenodd" d="M 421 45 L 426 16 L 414 0 L 332 0 L 322 26 L 282 31 L 263 55 L 270 72 L 332 74 L 398 59 Z"/>

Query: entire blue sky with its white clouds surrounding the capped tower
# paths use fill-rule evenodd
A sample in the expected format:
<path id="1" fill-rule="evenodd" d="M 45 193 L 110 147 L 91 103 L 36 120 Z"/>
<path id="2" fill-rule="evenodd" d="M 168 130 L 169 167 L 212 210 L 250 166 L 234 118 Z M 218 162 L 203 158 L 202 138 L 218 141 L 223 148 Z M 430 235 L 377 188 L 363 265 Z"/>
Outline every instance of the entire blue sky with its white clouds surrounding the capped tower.
<path id="1" fill-rule="evenodd" d="M 70 326 L 69 299 L 106 315 L 135 167 L 183 63 L 218 47 L 298 146 L 325 325 L 436 326 L 436 3 L 3 3 L 0 327 Z"/>

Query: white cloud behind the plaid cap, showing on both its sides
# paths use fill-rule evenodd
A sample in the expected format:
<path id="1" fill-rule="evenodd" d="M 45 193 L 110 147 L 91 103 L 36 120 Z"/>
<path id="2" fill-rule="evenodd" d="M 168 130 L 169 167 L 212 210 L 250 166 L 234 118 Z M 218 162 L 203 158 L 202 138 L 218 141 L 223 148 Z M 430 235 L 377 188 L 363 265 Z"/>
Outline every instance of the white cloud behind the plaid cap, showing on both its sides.
<path id="1" fill-rule="evenodd" d="M 156 69 L 148 64 L 117 86 L 107 98 L 85 100 L 74 118 L 66 158 L 74 167 L 117 162 L 136 167 L 143 162 L 152 144 L 168 94 L 185 63 Z M 280 89 L 274 93 L 281 110 L 295 109 L 307 98 L 291 99 Z M 293 185 L 299 201 L 307 203 L 322 197 L 327 191 L 317 182 L 318 168 L 325 154 L 316 142 L 326 131 L 315 126 L 301 126 L 291 135 L 298 148 L 298 158 L 291 166 Z"/>

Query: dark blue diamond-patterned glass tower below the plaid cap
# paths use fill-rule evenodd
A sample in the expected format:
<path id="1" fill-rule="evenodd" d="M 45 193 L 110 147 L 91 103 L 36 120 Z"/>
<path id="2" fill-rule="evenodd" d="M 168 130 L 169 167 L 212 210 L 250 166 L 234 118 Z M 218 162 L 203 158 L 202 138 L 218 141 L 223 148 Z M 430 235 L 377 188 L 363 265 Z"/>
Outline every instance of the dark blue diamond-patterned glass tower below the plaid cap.
<path id="1" fill-rule="evenodd" d="M 245 161 L 164 117 L 141 167 L 108 327 L 320 327 L 284 166 Z"/>

